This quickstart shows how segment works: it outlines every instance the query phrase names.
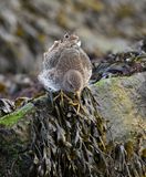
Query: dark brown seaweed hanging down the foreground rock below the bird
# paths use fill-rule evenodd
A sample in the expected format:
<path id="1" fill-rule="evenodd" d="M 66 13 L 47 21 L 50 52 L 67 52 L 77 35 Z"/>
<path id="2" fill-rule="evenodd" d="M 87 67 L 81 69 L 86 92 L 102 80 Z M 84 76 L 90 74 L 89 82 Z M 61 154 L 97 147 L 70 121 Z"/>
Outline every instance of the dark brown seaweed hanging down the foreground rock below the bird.
<path id="1" fill-rule="evenodd" d="M 83 91 L 84 111 L 79 113 L 65 97 L 56 101 L 55 94 L 48 95 L 52 104 L 36 104 L 31 121 L 33 164 L 29 176 L 145 176 L 145 160 L 135 143 L 107 142 L 106 122 L 98 114 L 98 104 L 88 88 Z"/>

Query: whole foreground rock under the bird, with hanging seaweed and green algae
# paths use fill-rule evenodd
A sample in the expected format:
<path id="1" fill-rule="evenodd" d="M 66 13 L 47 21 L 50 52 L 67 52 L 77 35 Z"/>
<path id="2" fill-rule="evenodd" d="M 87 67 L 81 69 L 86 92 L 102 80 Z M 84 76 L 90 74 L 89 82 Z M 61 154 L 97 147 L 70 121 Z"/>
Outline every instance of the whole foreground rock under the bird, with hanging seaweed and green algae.
<path id="1" fill-rule="evenodd" d="M 83 91 L 79 113 L 49 93 L 0 117 L 1 174 L 145 176 L 145 91 L 146 73 L 101 80 Z"/>

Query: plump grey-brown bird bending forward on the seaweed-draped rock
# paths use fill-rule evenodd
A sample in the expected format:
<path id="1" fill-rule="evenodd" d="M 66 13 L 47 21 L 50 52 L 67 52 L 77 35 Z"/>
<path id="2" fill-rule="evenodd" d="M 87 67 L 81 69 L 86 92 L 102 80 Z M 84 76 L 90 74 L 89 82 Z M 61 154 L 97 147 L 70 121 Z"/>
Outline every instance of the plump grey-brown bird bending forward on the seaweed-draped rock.
<path id="1" fill-rule="evenodd" d="M 92 63 L 77 35 L 66 33 L 43 54 L 38 79 L 46 91 L 71 92 L 80 97 L 92 75 Z"/>

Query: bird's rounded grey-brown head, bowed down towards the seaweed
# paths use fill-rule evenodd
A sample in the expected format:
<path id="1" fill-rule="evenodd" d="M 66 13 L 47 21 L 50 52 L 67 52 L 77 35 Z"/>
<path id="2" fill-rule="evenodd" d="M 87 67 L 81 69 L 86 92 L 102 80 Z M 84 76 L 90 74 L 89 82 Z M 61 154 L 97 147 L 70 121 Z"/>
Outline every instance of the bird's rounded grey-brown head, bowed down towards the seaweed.
<path id="1" fill-rule="evenodd" d="M 81 93 L 83 90 L 83 77 L 76 70 L 70 70 L 64 75 L 63 90 L 73 93 Z"/>

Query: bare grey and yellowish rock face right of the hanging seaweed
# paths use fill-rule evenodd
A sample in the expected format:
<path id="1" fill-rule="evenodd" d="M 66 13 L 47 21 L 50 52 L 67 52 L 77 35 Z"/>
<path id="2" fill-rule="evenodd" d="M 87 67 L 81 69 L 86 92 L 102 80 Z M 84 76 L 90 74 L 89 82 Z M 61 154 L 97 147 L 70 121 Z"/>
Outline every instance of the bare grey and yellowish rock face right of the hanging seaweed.
<path id="1" fill-rule="evenodd" d="M 146 72 L 101 80 L 92 91 L 113 139 L 125 140 L 146 129 Z"/>

